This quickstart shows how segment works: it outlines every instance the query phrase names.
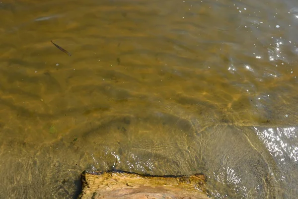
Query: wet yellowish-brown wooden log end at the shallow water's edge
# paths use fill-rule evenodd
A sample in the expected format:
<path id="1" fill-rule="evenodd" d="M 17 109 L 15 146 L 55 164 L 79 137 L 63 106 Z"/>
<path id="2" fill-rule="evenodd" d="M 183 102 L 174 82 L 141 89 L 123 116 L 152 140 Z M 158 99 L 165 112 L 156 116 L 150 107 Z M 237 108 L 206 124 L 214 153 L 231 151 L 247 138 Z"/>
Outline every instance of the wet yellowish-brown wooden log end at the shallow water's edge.
<path id="1" fill-rule="evenodd" d="M 78 199 L 208 199 L 205 176 L 153 176 L 119 170 L 84 171 Z"/>

